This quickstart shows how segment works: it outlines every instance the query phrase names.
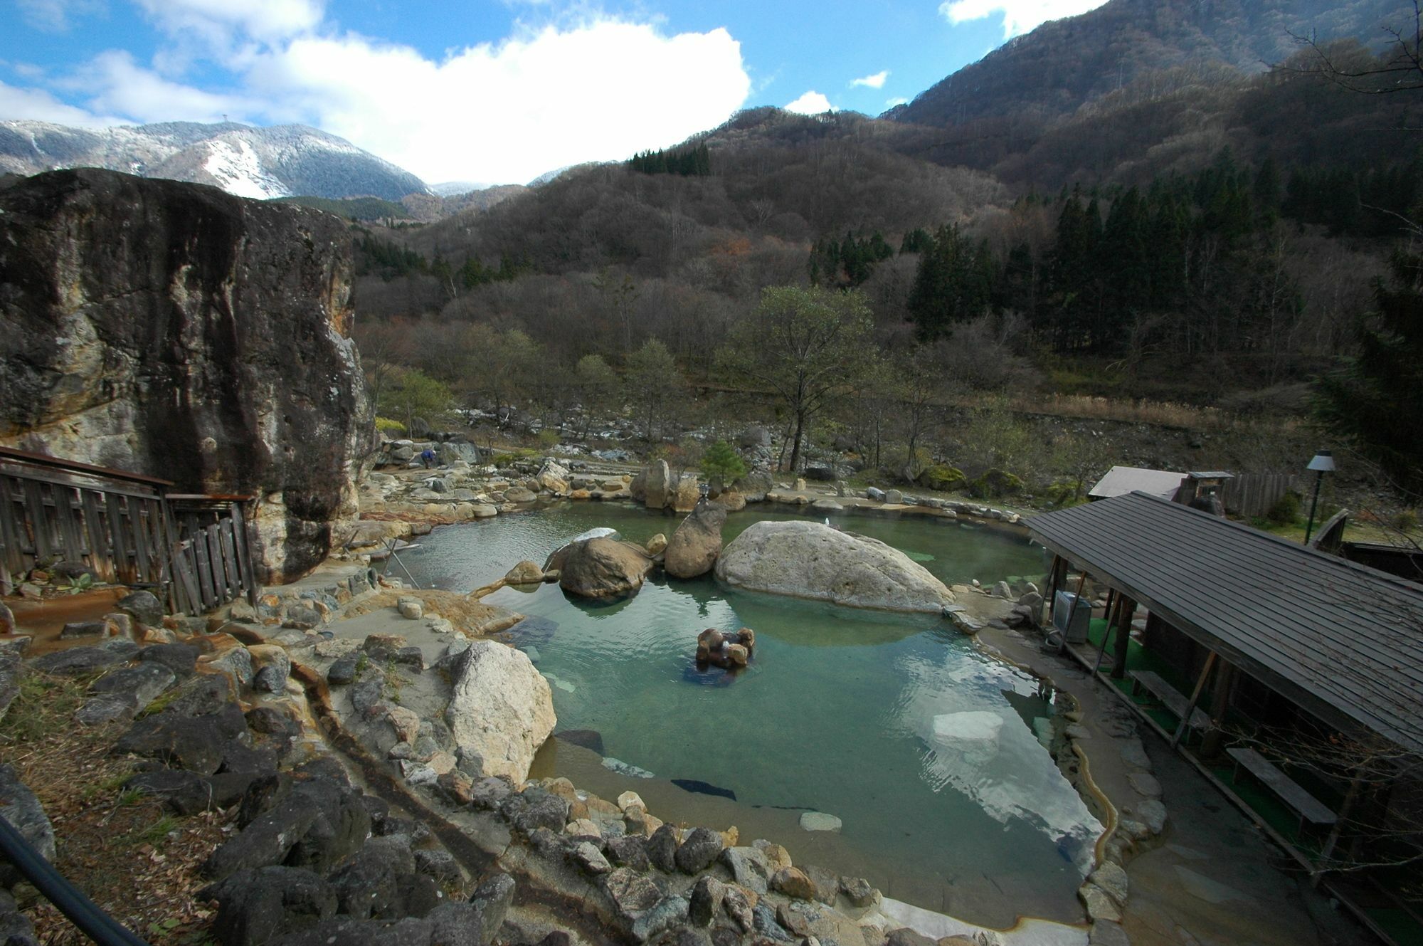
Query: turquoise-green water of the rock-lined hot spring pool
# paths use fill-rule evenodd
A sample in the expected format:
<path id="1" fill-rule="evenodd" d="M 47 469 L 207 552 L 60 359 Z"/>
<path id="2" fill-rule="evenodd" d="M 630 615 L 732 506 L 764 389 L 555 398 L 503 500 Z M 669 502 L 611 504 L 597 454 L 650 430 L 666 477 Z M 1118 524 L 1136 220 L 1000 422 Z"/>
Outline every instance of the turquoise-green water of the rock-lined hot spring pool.
<path id="1" fill-rule="evenodd" d="M 753 507 L 729 519 L 726 539 L 760 519 L 794 516 Z M 423 584 L 468 591 L 522 558 L 542 564 L 586 529 L 645 541 L 677 521 L 569 503 L 440 529 L 403 558 Z M 949 583 L 1043 570 L 1040 550 L 986 530 L 831 521 L 911 553 Z M 734 591 L 710 578 L 650 581 L 612 604 L 565 597 L 558 586 L 485 600 L 528 615 L 509 640 L 552 684 L 558 731 L 583 731 L 573 738 L 595 745 L 605 766 L 632 766 L 613 786 L 626 782 L 660 818 L 764 826 L 797 862 L 811 856 L 889 896 L 986 925 L 1007 926 L 1019 913 L 1080 919 L 1074 893 L 1100 825 L 1039 739 L 1046 694 L 946 621 Z M 697 671 L 692 654 L 706 627 L 754 628 L 751 665 L 736 675 Z M 564 749 L 552 768 L 612 792 L 588 784 L 588 758 L 596 759 Z M 670 779 L 702 785 L 680 791 Z M 713 801 L 721 808 L 707 808 Z M 803 811 L 835 815 L 840 835 L 801 831 Z M 751 836 L 760 835 L 743 833 Z"/>

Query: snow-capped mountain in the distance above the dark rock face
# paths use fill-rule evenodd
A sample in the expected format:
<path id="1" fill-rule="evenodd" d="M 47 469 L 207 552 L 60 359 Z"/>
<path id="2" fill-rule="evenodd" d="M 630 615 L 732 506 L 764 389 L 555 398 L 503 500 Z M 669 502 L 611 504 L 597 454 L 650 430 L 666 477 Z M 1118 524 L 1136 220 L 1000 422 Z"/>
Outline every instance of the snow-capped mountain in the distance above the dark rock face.
<path id="1" fill-rule="evenodd" d="M 302 194 L 398 201 L 430 192 L 414 174 L 306 125 L 169 121 L 88 130 L 0 121 L 0 172 L 73 167 L 212 184 L 255 198 Z"/>

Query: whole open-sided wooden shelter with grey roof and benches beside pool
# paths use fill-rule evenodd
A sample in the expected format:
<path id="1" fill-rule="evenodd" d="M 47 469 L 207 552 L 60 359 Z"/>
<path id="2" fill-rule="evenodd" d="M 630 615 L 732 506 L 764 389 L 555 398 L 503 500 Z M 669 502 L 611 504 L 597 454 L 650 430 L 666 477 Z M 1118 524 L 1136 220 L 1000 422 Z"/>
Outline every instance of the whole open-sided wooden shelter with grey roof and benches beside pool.
<path id="1" fill-rule="evenodd" d="M 1285 838 L 1278 821 L 1271 828 L 1247 812 L 1311 870 L 1331 862 L 1350 808 L 1387 809 L 1419 791 L 1419 769 L 1396 762 L 1423 759 L 1423 586 L 1141 492 L 1043 513 L 1027 526 L 1056 556 L 1049 601 L 1059 588 L 1081 590 L 1089 576 L 1104 590 L 1100 638 L 1079 660 L 1104 670 L 1173 745 L 1200 732 L 1188 757 L 1242 809 L 1222 762 L 1251 772 L 1298 814 L 1301 833 Z M 1073 571 L 1080 577 L 1069 578 Z M 1154 715 L 1143 710 L 1157 704 Z M 1365 754 L 1352 758 L 1346 748 L 1329 765 L 1318 755 L 1301 761 L 1292 749 L 1306 735 L 1294 734 L 1386 745 L 1372 758 L 1390 757 L 1397 775 L 1366 798 L 1359 786 L 1376 784 L 1377 771 L 1365 772 L 1373 765 Z M 1323 833 L 1321 843 L 1302 842 L 1306 822 Z"/>

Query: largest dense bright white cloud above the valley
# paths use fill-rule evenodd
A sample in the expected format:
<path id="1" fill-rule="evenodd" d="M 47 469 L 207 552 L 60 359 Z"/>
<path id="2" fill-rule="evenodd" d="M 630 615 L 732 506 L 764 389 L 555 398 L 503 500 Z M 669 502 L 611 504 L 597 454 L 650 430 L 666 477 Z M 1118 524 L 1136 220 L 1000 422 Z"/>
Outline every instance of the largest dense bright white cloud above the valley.
<path id="1" fill-rule="evenodd" d="M 750 77 L 721 28 L 663 36 L 601 20 L 433 61 L 357 36 L 302 37 L 248 74 L 263 101 L 427 181 L 524 182 L 676 144 L 741 107 Z"/>

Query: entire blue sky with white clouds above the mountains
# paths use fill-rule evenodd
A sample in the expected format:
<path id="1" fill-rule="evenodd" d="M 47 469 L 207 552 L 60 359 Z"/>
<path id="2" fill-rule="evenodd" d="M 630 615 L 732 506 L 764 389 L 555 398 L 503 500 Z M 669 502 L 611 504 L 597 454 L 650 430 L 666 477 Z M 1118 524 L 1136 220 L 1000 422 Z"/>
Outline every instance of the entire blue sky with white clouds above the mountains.
<path id="1" fill-rule="evenodd" d="M 877 115 L 1103 0 L 4 0 L 0 121 L 306 124 L 525 184 L 740 108 Z"/>

